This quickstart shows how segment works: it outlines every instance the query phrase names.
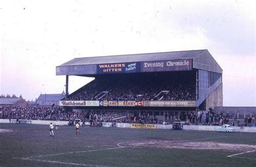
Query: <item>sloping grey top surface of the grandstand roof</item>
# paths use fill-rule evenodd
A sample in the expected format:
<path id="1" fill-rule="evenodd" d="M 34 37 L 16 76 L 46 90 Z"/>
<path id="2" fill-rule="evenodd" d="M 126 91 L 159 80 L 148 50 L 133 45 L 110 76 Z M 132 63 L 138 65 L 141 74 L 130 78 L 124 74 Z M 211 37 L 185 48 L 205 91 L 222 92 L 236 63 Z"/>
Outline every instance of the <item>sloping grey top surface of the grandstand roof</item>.
<path id="1" fill-rule="evenodd" d="M 81 58 L 72 59 L 66 63 L 61 64 L 60 66 L 194 59 L 198 55 L 203 53 L 205 50 L 206 49 L 187 50 L 187 51 L 178 51 L 178 52 L 160 52 L 160 53 L 115 55 L 115 56 L 81 57 Z"/>

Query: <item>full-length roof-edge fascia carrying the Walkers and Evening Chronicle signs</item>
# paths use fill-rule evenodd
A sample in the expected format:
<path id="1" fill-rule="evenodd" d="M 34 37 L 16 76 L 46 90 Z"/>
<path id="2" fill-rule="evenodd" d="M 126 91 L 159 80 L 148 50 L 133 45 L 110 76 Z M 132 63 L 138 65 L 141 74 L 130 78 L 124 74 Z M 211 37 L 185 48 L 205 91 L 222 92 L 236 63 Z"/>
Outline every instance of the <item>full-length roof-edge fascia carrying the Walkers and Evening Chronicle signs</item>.
<path id="1" fill-rule="evenodd" d="M 192 59 L 57 66 L 56 75 L 95 75 L 192 70 Z"/>

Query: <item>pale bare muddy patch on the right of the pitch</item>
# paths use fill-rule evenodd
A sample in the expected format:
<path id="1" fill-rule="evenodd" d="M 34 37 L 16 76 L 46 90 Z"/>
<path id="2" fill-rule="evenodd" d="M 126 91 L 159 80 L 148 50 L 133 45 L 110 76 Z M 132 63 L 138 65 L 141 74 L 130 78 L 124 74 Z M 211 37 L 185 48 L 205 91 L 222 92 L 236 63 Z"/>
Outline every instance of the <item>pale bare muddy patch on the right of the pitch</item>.
<path id="1" fill-rule="evenodd" d="M 230 144 L 205 141 L 132 141 L 120 143 L 122 147 L 147 147 L 163 149 L 193 149 L 193 150 L 225 150 L 225 151 L 252 151 L 256 150 L 255 145 Z"/>

